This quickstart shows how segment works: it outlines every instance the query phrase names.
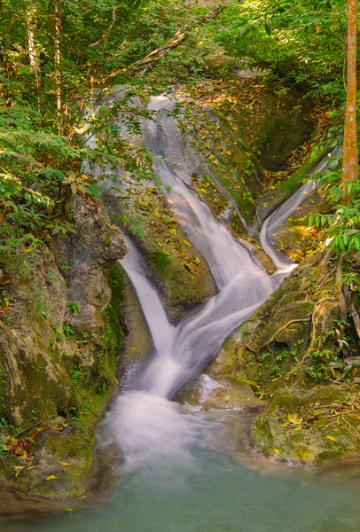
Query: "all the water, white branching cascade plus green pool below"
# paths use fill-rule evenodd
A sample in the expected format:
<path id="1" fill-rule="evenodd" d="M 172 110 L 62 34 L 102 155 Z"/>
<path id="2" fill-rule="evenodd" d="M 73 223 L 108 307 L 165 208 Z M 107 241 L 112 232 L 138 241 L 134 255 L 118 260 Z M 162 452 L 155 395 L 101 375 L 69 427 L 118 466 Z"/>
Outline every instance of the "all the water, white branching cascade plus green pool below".
<path id="1" fill-rule="evenodd" d="M 157 97 L 150 106 L 161 110 L 171 103 Z M 322 472 L 247 466 L 219 444 L 223 428 L 218 419 L 184 411 L 171 400 L 293 269 L 270 237 L 300 205 L 304 191 L 295 192 L 262 227 L 262 246 L 278 267 L 269 276 L 247 247 L 233 239 L 176 176 L 159 123 L 146 122 L 145 142 L 157 156 L 156 170 L 161 182 L 170 187 L 168 199 L 187 231 L 186 238 L 207 260 L 218 293 L 194 316 L 170 324 L 159 294 L 145 275 L 141 255 L 128 242 L 129 253 L 121 264 L 137 291 L 155 352 L 133 372 L 103 423 L 103 444 L 115 443 L 123 456 L 119 487 L 108 505 L 68 512 L 51 522 L 8 521 L 3 525 L 0 520 L 1 529 L 359 532 L 360 465 L 349 470 L 329 467 Z M 236 418 L 231 424 L 237 426 Z"/>

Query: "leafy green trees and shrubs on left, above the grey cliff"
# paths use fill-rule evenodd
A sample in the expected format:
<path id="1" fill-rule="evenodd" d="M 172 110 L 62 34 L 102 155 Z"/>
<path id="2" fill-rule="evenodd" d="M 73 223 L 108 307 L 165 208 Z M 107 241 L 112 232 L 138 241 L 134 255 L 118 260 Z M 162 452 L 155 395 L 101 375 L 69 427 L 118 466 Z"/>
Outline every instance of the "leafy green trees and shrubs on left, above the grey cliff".
<path id="1" fill-rule="evenodd" d="M 151 89 L 121 72 L 172 35 L 170 14 L 166 2 L 148 0 L 2 3 L 0 267 L 8 277 L 28 275 L 43 243 L 74 232 L 68 202 L 75 194 L 96 201 L 98 168 L 153 177 L 148 153 L 129 142 L 150 117 L 131 98 L 145 101 Z M 96 107 L 95 92 L 107 98 L 98 87 L 114 73 L 129 89 Z"/>

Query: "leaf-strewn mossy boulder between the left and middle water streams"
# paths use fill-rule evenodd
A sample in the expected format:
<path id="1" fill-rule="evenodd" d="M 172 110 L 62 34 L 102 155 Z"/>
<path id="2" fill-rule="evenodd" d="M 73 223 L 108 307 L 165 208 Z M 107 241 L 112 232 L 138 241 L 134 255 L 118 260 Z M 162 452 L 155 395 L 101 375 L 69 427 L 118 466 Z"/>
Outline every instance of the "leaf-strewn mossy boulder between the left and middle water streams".
<path id="1" fill-rule="evenodd" d="M 119 200 L 121 198 L 121 200 Z M 141 236 L 132 235 L 144 254 L 150 278 L 158 286 L 169 317 L 184 312 L 216 291 L 207 262 L 188 241 L 160 189 L 131 184 L 131 194 L 106 192 L 106 208 L 121 223 L 141 218 Z M 171 201 L 171 200 L 170 200 Z M 131 222 L 128 223 L 131 229 Z"/>

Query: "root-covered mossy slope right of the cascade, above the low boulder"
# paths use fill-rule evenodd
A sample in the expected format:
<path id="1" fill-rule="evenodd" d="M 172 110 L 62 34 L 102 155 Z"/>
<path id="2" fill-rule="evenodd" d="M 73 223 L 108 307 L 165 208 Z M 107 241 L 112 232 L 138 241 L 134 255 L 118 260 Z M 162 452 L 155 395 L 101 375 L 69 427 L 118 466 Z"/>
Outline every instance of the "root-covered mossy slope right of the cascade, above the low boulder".
<path id="1" fill-rule="evenodd" d="M 336 358 L 339 352 L 334 332 L 339 307 L 333 293 L 333 276 L 324 270 L 324 264 L 321 255 L 317 255 L 293 270 L 225 342 L 220 356 L 210 366 L 210 374 L 232 375 L 265 392 L 273 392 L 284 379 L 287 385 L 289 380 L 304 380 L 307 385 L 321 382 L 329 353 Z M 314 327 L 321 340 L 312 343 Z M 319 364 L 323 364 L 322 370 L 313 377 L 313 369 L 318 369 Z"/>

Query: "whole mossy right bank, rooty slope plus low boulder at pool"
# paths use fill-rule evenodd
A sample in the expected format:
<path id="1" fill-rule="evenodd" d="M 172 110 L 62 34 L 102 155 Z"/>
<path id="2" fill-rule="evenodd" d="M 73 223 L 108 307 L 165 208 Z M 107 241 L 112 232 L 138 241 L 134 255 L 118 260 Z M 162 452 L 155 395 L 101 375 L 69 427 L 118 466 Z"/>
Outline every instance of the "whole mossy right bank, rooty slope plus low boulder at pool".
<path id="1" fill-rule="evenodd" d="M 360 452 L 360 396 L 356 378 L 346 380 L 341 369 L 334 264 L 330 254 L 301 263 L 208 369 L 216 380 L 246 383 L 262 401 L 252 447 L 270 458 L 315 465 Z M 354 356 L 351 326 L 347 338 Z"/>

